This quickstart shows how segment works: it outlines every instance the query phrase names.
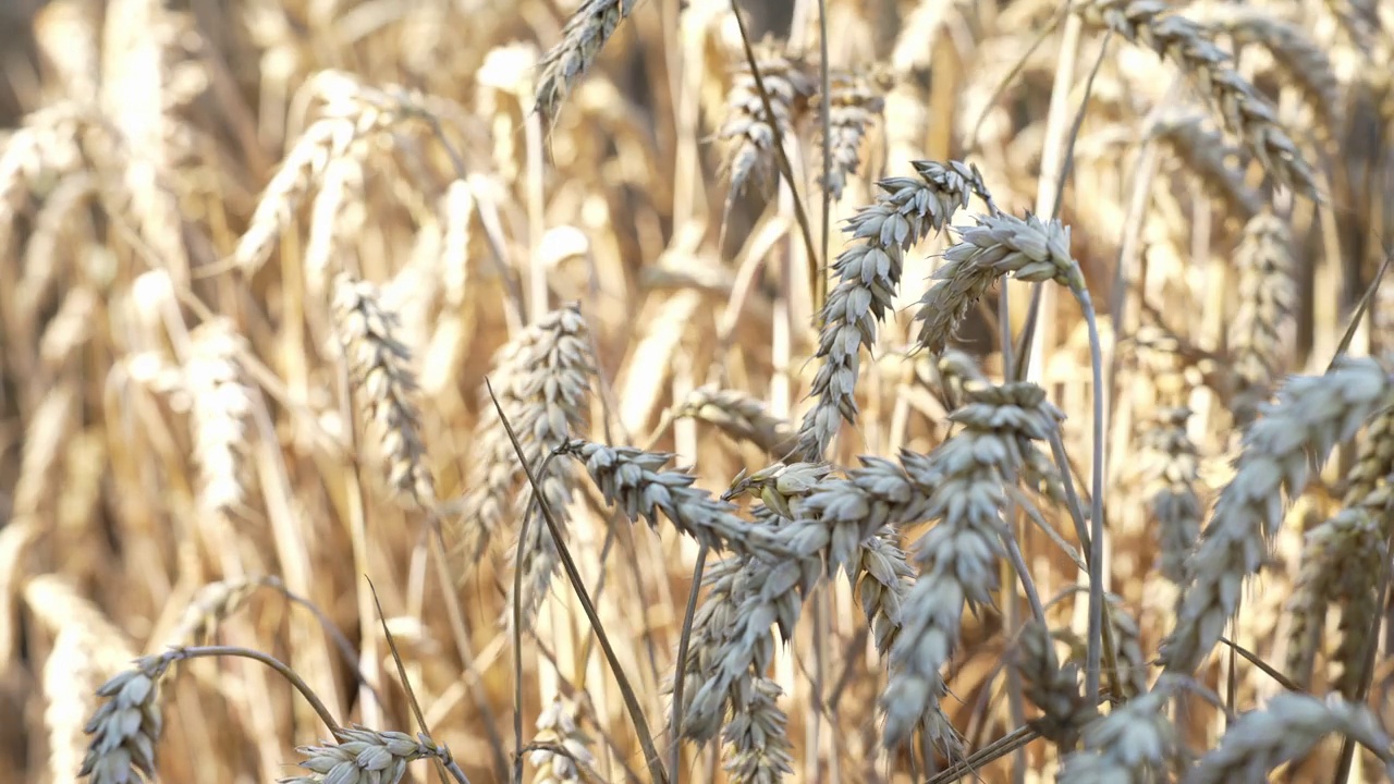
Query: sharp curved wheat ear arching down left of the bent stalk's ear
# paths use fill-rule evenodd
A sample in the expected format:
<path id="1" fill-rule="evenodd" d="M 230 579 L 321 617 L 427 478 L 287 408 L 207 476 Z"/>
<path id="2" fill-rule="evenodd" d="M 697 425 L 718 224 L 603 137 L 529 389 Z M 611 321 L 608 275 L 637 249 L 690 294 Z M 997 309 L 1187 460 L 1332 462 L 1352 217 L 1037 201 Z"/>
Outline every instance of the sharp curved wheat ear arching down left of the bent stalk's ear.
<path id="1" fill-rule="evenodd" d="M 877 325 L 901 285 L 905 252 L 931 232 L 944 230 L 953 213 L 967 206 L 969 195 L 990 198 L 977 172 L 956 160 L 917 160 L 914 170 L 919 177 L 877 183 L 877 202 L 848 222 L 852 246 L 832 264 L 839 283 L 820 315 L 820 364 L 811 389 L 818 402 L 799 427 L 799 453 L 806 460 L 828 451 L 839 417 L 856 424 L 860 350 L 875 345 Z"/>

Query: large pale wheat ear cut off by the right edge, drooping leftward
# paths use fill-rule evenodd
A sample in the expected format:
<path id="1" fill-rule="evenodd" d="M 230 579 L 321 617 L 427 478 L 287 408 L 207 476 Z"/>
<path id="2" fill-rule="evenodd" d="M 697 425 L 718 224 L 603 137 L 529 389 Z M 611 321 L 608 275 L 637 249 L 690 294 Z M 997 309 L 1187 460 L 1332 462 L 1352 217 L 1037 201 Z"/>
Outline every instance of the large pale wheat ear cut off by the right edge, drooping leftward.
<path id="1" fill-rule="evenodd" d="M 1186 562 L 1177 625 L 1163 646 L 1168 671 L 1190 672 L 1220 640 L 1239 589 L 1259 573 L 1264 543 L 1282 519 L 1282 495 L 1302 491 L 1313 459 L 1324 460 L 1372 412 L 1390 403 L 1373 360 L 1340 357 L 1320 377 L 1294 377 L 1243 437 L 1235 476 Z"/>

